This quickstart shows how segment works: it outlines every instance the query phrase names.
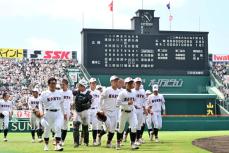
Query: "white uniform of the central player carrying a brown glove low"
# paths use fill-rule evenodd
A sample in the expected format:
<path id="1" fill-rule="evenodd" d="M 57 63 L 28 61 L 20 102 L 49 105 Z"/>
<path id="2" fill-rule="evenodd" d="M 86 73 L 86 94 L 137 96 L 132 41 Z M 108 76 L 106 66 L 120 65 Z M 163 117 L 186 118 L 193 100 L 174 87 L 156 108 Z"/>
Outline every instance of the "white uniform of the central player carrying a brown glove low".
<path id="1" fill-rule="evenodd" d="M 117 107 L 117 97 L 119 94 L 119 89 L 114 90 L 112 87 L 106 88 L 100 96 L 100 109 L 104 111 L 107 116 L 105 125 L 107 130 L 111 133 L 115 132 L 116 128 L 116 107 Z"/>

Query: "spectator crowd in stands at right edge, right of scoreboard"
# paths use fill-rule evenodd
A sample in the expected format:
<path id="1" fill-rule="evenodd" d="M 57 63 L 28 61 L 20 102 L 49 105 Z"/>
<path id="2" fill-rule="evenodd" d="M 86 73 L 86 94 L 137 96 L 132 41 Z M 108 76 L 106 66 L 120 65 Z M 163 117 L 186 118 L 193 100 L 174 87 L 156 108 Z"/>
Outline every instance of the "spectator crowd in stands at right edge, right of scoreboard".
<path id="1" fill-rule="evenodd" d="M 224 94 L 226 99 L 229 99 L 229 64 L 214 63 L 212 65 L 212 73 L 223 85 L 219 87 L 219 90 Z"/>

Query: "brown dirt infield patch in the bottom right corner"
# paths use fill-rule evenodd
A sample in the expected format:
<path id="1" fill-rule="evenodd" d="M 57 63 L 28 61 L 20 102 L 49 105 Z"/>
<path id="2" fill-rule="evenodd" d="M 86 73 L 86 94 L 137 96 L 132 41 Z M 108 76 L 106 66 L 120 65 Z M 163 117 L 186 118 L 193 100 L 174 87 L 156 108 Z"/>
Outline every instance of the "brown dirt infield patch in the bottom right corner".
<path id="1" fill-rule="evenodd" d="M 213 153 L 229 153 L 229 136 L 196 139 L 192 144 Z"/>

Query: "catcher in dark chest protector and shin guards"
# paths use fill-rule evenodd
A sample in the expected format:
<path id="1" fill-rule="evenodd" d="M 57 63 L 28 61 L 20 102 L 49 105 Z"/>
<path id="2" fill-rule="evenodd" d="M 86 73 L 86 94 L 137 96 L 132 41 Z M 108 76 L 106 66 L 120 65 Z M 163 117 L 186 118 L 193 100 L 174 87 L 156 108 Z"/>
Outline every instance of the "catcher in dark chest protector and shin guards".
<path id="1" fill-rule="evenodd" d="M 89 90 L 86 90 L 87 82 L 80 80 L 78 83 L 78 90 L 73 93 L 75 96 L 76 118 L 73 121 L 73 138 L 74 147 L 79 147 L 80 133 L 79 128 L 82 123 L 82 133 L 84 136 L 84 144 L 88 146 L 89 143 L 89 109 L 91 108 L 92 96 Z"/>

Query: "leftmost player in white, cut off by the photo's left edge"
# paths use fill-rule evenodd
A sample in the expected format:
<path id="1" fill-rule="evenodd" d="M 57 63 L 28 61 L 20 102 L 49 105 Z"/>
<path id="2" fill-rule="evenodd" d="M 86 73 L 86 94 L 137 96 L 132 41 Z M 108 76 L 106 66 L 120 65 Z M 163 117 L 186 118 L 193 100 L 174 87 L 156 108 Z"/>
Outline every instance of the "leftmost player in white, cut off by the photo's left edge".
<path id="1" fill-rule="evenodd" d="M 10 95 L 8 93 L 3 93 L 2 100 L 0 101 L 0 133 L 4 132 L 4 139 L 3 141 L 7 140 L 8 134 L 8 126 L 9 126 L 9 119 L 13 114 L 13 104 L 9 101 Z"/>

